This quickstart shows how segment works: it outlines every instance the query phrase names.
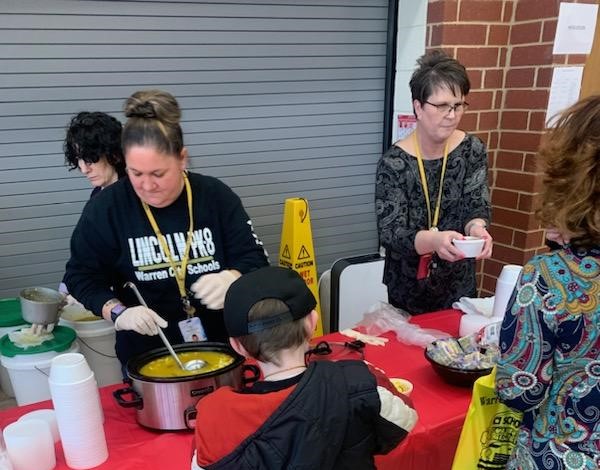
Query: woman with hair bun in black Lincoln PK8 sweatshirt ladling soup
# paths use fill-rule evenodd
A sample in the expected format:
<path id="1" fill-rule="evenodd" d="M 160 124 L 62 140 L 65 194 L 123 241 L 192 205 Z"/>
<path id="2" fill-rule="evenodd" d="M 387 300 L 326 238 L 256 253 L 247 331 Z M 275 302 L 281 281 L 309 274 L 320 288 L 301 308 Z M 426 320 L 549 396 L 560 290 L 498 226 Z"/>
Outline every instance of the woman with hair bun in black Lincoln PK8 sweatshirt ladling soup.
<path id="1" fill-rule="evenodd" d="M 162 346 L 158 328 L 173 343 L 226 341 L 221 309 L 229 285 L 268 264 L 240 198 L 216 178 L 186 170 L 177 100 L 138 91 L 125 116 L 127 177 L 86 205 L 65 276 L 86 308 L 114 322 L 122 364 Z"/>

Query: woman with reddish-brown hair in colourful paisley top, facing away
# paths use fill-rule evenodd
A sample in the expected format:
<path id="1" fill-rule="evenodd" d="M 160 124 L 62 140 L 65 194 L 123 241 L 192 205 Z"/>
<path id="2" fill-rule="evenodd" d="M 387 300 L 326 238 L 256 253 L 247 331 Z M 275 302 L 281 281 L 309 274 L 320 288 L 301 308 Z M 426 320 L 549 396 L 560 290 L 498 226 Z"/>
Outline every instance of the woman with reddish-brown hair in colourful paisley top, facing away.
<path id="1" fill-rule="evenodd" d="M 539 156 L 538 216 L 564 246 L 523 267 L 502 323 L 498 396 L 524 412 L 506 468 L 597 470 L 600 96 L 564 111 Z"/>

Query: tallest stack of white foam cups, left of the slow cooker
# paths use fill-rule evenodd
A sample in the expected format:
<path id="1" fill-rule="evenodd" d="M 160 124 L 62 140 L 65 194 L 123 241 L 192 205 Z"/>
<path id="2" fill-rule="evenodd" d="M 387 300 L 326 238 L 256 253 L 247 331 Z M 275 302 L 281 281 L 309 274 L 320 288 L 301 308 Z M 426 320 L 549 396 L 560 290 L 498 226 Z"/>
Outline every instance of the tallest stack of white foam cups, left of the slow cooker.
<path id="1" fill-rule="evenodd" d="M 98 385 L 83 354 L 56 356 L 48 377 L 67 465 L 87 469 L 108 458 Z"/>

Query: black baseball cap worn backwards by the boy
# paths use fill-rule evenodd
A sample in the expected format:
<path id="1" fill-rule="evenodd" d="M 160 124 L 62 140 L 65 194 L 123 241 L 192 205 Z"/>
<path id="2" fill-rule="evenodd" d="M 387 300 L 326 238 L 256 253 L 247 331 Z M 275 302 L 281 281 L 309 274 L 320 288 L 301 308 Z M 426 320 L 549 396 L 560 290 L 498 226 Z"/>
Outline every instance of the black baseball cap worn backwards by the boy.
<path id="1" fill-rule="evenodd" d="M 286 304 L 282 312 L 253 322 L 248 312 L 261 300 L 278 299 Z M 267 266 L 238 278 L 227 290 L 223 307 L 225 328 L 231 337 L 257 333 L 267 328 L 298 320 L 317 305 L 312 292 L 293 269 Z"/>

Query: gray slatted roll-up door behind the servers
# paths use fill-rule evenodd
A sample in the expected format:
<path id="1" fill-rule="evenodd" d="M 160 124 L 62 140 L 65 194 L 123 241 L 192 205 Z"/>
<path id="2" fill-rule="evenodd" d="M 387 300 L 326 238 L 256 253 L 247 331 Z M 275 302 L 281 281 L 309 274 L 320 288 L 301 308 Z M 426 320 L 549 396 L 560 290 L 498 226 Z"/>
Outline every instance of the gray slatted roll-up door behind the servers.
<path id="1" fill-rule="evenodd" d="M 91 188 L 64 166 L 82 110 L 161 88 L 193 171 L 242 197 L 271 262 L 283 202 L 311 207 L 320 271 L 377 249 L 387 0 L 0 2 L 0 297 L 56 287 Z"/>

